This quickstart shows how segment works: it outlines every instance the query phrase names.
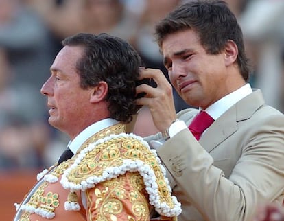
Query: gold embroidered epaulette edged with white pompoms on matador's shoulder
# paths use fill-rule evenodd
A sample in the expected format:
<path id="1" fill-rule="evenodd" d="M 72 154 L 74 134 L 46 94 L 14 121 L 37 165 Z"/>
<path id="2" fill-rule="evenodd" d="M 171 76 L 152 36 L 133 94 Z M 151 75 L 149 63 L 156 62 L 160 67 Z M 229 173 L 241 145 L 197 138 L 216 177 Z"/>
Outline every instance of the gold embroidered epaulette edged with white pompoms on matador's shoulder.
<path id="1" fill-rule="evenodd" d="M 150 149 L 141 137 L 126 133 L 88 143 L 75 156 L 60 181 L 65 189 L 70 189 L 65 209 L 80 209 L 75 191 L 85 191 L 126 172 L 139 172 L 149 194 L 150 205 L 162 216 L 173 217 L 181 213 L 180 203 L 171 196 L 165 168 L 156 150 Z"/>

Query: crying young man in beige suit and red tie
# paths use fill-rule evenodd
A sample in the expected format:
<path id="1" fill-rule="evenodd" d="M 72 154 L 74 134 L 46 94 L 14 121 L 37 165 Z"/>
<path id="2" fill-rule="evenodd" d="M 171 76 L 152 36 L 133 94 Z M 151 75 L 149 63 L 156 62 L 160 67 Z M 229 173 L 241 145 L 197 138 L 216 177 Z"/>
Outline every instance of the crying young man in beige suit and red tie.
<path id="1" fill-rule="evenodd" d="M 157 84 L 138 86 L 146 95 L 137 104 L 149 106 L 161 131 L 147 141 L 174 178 L 178 220 L 248 221 L 260 203 L 283 205 L 284 115 L 248 84 L 241 29 L 226 3 L 185 3 L 158 23 L 156 38 L 171 84 L 199 108 L 176 115 L 161 71 L 141 71 Z M 200 116 L 211 126 L 200 128 Z"/>

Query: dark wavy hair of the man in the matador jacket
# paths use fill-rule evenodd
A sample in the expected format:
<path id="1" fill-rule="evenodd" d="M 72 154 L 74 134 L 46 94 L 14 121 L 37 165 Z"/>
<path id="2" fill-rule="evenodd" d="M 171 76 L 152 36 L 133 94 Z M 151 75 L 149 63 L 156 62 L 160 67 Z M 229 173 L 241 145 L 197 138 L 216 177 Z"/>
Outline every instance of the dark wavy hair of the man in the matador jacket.
<path id="1" fill-rule="evenodd" d="M 139 84 L 139 66 L 143 65 L 137 51 L 121 38 L 109 34 L 75 34 L 62 40 L 62 45 L 82 46 L 84 54 L 76 64 L 82 89 L 108 84 L 110 117 L 129 122 L 140 106 L 135 104 Z"/>

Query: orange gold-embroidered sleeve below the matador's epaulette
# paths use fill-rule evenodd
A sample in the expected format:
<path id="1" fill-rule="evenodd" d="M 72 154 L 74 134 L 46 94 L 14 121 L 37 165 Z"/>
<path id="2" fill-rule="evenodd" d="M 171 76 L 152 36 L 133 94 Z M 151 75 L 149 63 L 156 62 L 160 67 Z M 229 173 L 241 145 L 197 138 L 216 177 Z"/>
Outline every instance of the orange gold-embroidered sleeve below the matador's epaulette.
<path id="1" fill-rule="evenodd" d="M 150 205 L 143 179 L 127 172 L 86 190 L 87 220 L 149 220 Z"/>

